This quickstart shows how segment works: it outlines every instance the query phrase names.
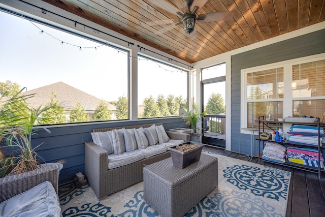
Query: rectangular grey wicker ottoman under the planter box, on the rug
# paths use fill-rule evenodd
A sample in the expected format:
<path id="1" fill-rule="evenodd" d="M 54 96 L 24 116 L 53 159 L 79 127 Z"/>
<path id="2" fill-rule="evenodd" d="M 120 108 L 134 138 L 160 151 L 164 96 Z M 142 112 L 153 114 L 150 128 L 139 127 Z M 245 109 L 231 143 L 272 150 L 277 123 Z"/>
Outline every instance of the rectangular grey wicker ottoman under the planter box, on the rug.
<path id="1" fill-rule="evenodd" d="M 183 216 L 218 185 L 218 159 L 201 154 L 184 169 L 171 158 L 143 168 L 144 200 L 162 217 Z"/>

